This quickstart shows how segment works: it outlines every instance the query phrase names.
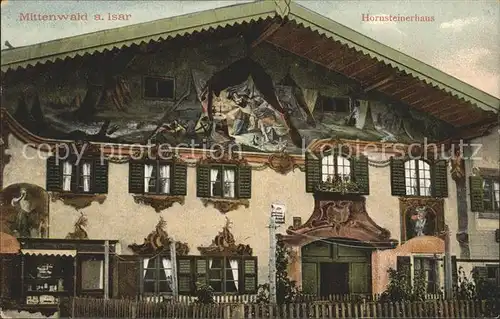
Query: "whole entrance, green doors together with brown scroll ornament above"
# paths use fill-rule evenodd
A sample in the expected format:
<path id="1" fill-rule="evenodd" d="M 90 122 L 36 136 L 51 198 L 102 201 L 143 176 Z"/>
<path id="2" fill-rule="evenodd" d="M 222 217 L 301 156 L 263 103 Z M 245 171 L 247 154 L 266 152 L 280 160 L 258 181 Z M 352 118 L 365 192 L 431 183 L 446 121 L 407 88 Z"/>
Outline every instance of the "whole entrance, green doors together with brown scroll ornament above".
<path id="1" fill-rule="evenodd" d="M 397 245 L 357 195 L 315 194 L 312 215 L 289 227 L 281 240 L 293 251 L 290 277 L 315 295 L 371 293 L 372 252 Z"/>

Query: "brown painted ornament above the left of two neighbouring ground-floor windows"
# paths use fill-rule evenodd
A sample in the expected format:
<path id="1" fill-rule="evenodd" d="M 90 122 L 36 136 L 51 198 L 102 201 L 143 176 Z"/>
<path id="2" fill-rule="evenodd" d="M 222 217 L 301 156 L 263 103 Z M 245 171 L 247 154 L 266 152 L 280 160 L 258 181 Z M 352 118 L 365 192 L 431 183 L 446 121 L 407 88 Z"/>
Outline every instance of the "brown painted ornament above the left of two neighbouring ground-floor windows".
<path id="1" fill-rule="evenodd" d="M 165 228 L 167 222 L 160 217 L 160 221 L 146 238 L 144 238 L 144 243 L 141 245 L 132 244 L 128 247 L 138 255 L 151 255 L 158 254 L 162 252 L 170 252 L 170 244 L 172 239 L 168 236 Z M 187 243 L 176 242 L 175 251 L 179 256 L 186 256 L 189 253 L 189 246 Z"/>

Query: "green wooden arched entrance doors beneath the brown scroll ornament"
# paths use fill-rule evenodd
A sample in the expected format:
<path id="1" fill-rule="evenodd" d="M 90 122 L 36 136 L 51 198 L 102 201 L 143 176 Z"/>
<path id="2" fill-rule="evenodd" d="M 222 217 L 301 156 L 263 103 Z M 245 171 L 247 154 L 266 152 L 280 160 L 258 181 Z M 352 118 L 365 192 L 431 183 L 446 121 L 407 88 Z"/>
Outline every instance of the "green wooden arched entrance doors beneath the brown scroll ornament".
<path id="1" fill-rule="evenodd" d="M 375 248 L 346 238 L 318 240 L 302 247 L 302 289 L 318 296 L 371 293 Z"/>

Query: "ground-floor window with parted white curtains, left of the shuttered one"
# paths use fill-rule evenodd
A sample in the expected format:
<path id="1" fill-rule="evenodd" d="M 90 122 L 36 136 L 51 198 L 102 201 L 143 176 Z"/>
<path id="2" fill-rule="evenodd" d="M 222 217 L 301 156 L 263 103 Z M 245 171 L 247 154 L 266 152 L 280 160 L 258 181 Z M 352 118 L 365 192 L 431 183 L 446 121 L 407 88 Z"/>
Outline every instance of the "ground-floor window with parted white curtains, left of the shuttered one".
<path id="1" fill-rule="evenodd" d="M 142 294 L 172 293 L 172 262 L 170 258 L 162 256 L 143 258 L 141 268 Z"/>

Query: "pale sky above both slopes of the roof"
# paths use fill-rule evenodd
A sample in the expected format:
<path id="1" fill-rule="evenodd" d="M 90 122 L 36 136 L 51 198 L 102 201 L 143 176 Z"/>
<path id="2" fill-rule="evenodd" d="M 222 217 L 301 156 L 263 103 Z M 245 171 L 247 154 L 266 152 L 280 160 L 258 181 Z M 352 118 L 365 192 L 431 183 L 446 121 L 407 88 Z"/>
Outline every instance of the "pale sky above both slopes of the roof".
<path id="1" fill-rule="evenodd" d="M 264 0 L 271 1 L 271 0 Z M 1 43 L 24 46 L 249 1 L 1 0 Z M 500 1 L 296 1 L 500 98 Z M 21 21 L 20 14 L 87 14 L 87 21 Z M 95 14 L 128 21 L 95 21 Z M 427 21 L 369 21 L 418 16 Z M 373 19 L 373 18 L 372 18 Z M 381 18 L 374 18 L 380 20 Z M 414 19 L 415 20 L 415 19 Z"/>

